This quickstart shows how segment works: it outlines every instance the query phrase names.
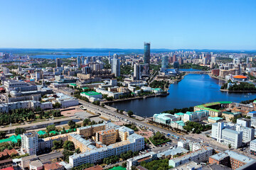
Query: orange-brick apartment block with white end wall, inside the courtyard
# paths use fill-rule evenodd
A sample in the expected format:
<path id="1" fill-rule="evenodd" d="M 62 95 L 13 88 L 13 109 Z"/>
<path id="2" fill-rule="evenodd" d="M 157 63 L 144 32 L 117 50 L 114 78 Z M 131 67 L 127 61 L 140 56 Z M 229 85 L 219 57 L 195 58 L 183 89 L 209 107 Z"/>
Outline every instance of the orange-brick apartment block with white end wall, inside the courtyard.
<path id="1" fill-rule="evenodd" d="M 96 132 L 96 142 L 102 142 L 104 145 L 110 145 L 117 142 L 117 130 L 102 130 L 100 132 Z"/>

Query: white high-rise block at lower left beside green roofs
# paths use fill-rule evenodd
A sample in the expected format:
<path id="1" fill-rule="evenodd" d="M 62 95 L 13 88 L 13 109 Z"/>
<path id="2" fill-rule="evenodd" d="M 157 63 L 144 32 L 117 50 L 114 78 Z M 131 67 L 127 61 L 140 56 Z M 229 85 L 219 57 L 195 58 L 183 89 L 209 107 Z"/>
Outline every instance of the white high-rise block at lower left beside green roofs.
<path id="1" fill-rule="evenodd" d="M 27 132 L 21 135 L 21 153 L 36 154 L 38 152 L 38 133 Z"/>

